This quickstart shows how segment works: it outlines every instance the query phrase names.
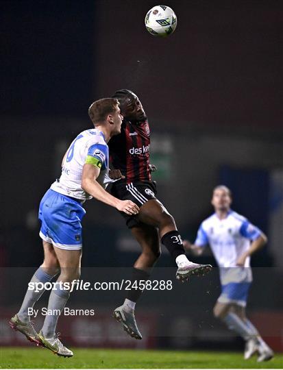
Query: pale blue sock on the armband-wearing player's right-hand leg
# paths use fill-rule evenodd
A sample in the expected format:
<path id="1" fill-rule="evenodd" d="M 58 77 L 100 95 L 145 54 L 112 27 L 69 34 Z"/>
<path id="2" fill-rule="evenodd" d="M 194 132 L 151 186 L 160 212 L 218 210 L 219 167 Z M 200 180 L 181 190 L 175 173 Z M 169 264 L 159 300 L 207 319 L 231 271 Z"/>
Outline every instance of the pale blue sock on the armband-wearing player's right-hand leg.
<path id="1" fill-rule="evenodd" d="M 45 322 L 42 326 L 42 334 L 45 338 L 54 338 L 58 318 L 69 297 L 69 291 L 61 288 L 59 284 L 56 284 L 56 289 L 52 289 L 49 297 Z"/>

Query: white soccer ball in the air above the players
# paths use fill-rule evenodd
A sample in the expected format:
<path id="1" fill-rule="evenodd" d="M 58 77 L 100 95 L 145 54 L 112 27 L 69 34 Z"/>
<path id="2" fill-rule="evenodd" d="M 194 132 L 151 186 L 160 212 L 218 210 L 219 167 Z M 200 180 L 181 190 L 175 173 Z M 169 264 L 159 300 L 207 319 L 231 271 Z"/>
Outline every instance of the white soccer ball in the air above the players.
<path id="1" fill-rule="evenodd" d="M 153 36 L 169 36 L 175 31 L 177 16 L 169 6 L 156 5 L 145 16 L 145 27 Z"/>

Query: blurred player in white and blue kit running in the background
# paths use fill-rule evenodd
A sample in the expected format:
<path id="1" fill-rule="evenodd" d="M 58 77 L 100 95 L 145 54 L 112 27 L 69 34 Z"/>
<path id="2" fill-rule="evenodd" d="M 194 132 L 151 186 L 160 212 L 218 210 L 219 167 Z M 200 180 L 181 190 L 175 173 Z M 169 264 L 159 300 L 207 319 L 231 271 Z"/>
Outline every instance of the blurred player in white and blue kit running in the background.
<path id="1" fill-rule="evenodd" d="M 214 306 L 214 316 L 245 340 L 245 359 L 258 352 L 258 361 L 270 360 L 273 351 L 247 319 L 245 306 L 252 275 L 250 256 L 267 243 L 267 237 L 245 217 L 230 209 L 230 189 L 219 185 L 213 190 L 214 214 L 204 220 L 192 245 L 184 247 L 200 255 L 207 245 L 219 265 L 221 295 Z"/>

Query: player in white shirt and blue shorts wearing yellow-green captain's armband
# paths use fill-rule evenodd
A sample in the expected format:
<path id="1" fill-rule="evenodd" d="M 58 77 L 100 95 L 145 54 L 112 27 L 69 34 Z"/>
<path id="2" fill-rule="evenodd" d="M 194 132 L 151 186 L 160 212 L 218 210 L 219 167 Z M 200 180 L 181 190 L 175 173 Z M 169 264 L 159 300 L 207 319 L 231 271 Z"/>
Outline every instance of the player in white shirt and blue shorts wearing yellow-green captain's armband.
<path id="1" fill-rule="evenodd" d="M 19 312 L 10 319 L 11 327 L 25 334 L 29 341 L 65 357 L 73 356 L 73 352 L 64 347 L 55 331 L 58 317 L 70 297 L 71 282 L 79 279 L 80 275 L 81 221 L 86 213 L 82 204 L 94 197 L 129 215 L 137 214 L 139 210 L 132 201 L 117 199 L 105 190 L 106 184 L 112 181 L 108 176 L 107 143 L 121 132 L 123 116 L 119 101 L 100 99 L 90 106 L 88 113 L 95 128 L 81 132 L 73 140 L 62 160 L 60 179 L 51 185 L 40 202 L 44 261 L 29 282 L 31 288 L 27 290 Z M 30 321 L 32 308 L 45 291 L 44 284 L 58 273 L 56 288 L 50 293 L 48 313 L 37 333 Z M 36 286 L 40 288 L 36 289 Z"/>

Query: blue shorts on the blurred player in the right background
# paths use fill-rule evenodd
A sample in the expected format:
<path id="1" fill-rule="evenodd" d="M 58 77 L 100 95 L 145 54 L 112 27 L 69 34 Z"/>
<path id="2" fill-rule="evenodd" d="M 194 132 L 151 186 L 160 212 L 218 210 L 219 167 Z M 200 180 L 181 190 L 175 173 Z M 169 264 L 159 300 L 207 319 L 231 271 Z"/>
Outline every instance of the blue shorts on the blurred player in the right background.
<path id="1" fill-rule="evenodd" d="M 221 295 L 218 301 L 223 304 L 234 303 L 245 307 L 250 286 L 251 282 L 230 282 L 221 285 Z"/>

